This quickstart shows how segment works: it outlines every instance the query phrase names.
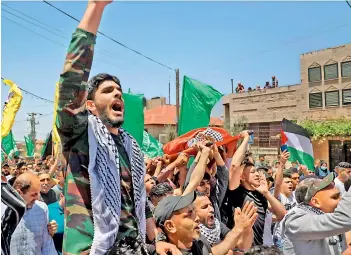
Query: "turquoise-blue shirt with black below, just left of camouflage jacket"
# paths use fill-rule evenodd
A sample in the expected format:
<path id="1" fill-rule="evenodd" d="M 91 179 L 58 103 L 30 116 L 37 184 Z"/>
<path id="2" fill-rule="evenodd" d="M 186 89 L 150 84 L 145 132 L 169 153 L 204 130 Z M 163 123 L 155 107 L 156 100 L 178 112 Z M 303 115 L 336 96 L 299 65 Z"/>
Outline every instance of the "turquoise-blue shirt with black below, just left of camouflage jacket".
<path id="1" fill-rule="evenodd" d="M 63 208 L 59 205 L 59 202 L 55 202 L 48 205 L 49 208 L 49 222 L 52 220 L 57 223 L 57 232 L 53 236 L 54 244 L 58 254 L 62 254 L 62 242 L 64 232 L 64 212 Z"/>

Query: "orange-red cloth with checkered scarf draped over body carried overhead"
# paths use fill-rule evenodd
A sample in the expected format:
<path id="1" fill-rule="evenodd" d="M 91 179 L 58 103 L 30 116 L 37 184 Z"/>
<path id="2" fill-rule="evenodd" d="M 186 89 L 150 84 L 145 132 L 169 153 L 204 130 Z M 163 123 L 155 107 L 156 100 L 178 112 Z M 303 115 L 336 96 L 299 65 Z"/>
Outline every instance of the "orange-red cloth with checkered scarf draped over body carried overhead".
<path id="1" fill-rule="evenodd" d="M 163 151 L 167 155 L 177 155 L 182 151 L 189 151 L 189 155 L 195 155 L 196 152 L 191 151 L 190 147 L 192 144 L 200 141 L 203 135 L 213 138 L 219 146 L 226 145 L 227 147 L 233 147 L 233 151 L 235 151 L 237 141 L 239 140 L 239 136 L 231 136 L 224 128 L 197 128 L 166 143 L 163 146 Z M 228 158 L 232 156 L 227 155 Z"/>

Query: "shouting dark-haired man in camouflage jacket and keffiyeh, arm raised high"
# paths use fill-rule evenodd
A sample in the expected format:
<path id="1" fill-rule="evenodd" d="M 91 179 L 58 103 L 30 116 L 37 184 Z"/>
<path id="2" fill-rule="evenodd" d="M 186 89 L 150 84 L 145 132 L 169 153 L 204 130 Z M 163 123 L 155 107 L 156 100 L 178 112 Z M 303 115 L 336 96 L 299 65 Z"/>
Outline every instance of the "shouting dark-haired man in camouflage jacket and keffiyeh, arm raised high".
<path id="1" fill-rule="evenodd" d="M 89 1 L 68 48 L 59 80 L 57 129 L 67 162 L 63 254 L 114 254 L 121 246 L 145 253 L 157 228 L 146 204 L 142 152 L 121 126 L 120 80 L 90 79 L 96 33 L 111 1 Z M 159 240 L 159 239 L 158 239 Z M 157 242 L 159 253 L 174 246 Z"/>

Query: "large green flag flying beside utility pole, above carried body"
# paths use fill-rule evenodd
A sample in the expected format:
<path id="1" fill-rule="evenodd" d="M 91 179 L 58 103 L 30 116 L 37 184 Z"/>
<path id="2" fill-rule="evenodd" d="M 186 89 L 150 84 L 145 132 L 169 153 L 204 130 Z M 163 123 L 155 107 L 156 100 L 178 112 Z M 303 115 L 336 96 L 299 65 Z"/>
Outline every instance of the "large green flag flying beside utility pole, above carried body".
<path id="1" fill-rule="evenodd" d="M 178 135 L 207 127 L 213 106 L 223 96 L 210 85 L 184 76 Z"/>

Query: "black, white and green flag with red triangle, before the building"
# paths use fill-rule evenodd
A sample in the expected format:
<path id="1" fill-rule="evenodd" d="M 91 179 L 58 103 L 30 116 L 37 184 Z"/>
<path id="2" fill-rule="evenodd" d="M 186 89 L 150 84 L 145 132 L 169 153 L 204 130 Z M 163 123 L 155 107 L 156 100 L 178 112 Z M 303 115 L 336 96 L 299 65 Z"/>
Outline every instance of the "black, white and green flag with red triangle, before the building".
<path id="1" fill-rule="evenodd" d="M 314 171 L 313 147 L 310 135 L 303 127 L 287 120 L 282 121 L 281 130 L 282 146 L 286 145 L 290 152 L 289 160 L 298 161 Z"/>

